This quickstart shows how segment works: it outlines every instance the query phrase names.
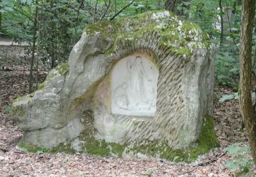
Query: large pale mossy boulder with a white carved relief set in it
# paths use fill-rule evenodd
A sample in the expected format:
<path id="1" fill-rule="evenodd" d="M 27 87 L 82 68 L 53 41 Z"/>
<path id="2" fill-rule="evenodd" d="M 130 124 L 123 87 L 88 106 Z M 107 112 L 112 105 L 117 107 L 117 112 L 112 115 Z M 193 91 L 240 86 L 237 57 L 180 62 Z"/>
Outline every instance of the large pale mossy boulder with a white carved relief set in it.
<path id="1" fill-rule="evenodd" d="M 213 49 L 197 25 L 167 11 L 91 25 L 68 63 L 14 101 L 18 146 L 193 161 L 218 146 Z"/>

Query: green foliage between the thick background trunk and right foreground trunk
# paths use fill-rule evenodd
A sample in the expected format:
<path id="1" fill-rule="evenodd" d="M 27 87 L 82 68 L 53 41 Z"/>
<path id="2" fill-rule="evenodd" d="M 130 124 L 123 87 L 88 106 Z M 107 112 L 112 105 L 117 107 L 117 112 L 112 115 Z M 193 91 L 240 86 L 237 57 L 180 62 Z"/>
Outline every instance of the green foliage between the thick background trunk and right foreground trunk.
<path id="1" fill-rule="evenodd" d="M 225 0 L 222 1 L 222 6 L 223 12 L 219 9 L 218 0 L 183 0 L 179 1 L 175 14 L 197 23 L 204 32 L 210 35 L 211 42 L 216 45 L 220 44 L 220 16 L 223 16 L 223 44 L 215 59 L 216 83 L 233 87 L 236 90 L 239 79 L 241 2 Z"/>

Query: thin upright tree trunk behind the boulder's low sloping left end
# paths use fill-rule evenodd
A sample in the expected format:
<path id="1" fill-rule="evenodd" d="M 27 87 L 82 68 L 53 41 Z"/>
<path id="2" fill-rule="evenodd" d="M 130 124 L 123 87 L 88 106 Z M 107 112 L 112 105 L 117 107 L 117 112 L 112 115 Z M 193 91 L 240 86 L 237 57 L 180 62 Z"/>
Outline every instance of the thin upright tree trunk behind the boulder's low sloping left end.
<path id="1" fill-rule="evenodd" d="M 36 40 L 37 25 L 38 25 L 38 0 L 35 1 L 35 16 L 33 20 L 33 44 L 32 44 L 32 57 L 31 57 L 30 74 L 29 74 L 29 93 L 32 92 L 33 61 L 35 59 L 35 40 Z"/>

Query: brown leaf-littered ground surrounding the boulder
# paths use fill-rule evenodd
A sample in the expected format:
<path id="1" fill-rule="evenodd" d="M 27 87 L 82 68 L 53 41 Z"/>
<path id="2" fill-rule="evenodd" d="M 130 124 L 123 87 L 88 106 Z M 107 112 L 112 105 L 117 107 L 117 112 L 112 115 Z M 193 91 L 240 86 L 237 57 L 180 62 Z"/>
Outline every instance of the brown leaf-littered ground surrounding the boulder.
<path id="1" fill-rule="evenodd" d="M 11 55 L 3 56 L 2 52 L 1 57 L 0 46 L 0 176 L 236 176 L 236 172 L 225 167 L 226 161 L 233 159 L 225 148 L 238 142 L 242 142 L 240 146 L 248 146 L 248 142 L 241 130 L 238 100 L 218 101 L 220 95 L 233 93 L 232 89 L 221 86 L 215 88 L 214 96 L 214 129 L 221 147 L 192 164 L 18 150 L 16 144 L 23 131 L 10 119 L 10 111 L 12 101 L 28 93 L 29 76 L 29 61 L 18 55 L 20 52 L 12 51 Z M 41 82 L 46 74 L 41 67 Z M 255 167 L 251 167 L 248 174 L 253 176 L 255 172 Z"/>

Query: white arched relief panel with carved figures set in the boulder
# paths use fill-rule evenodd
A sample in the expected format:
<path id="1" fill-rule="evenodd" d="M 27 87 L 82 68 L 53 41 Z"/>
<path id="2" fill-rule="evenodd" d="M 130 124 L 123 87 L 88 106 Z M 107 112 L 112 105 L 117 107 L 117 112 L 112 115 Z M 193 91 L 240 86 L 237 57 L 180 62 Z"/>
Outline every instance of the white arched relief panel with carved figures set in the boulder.
<path id="1" fill-rule="evenodd" d="M 156 113 L 158 69 L 140 55 L 119 61 L 112 73 L 111 112 L 133 116 Z"/>

